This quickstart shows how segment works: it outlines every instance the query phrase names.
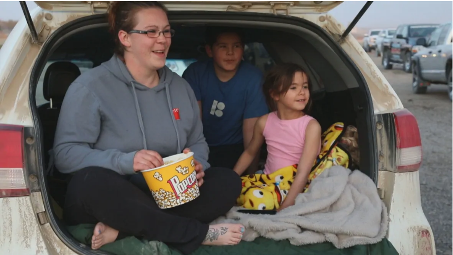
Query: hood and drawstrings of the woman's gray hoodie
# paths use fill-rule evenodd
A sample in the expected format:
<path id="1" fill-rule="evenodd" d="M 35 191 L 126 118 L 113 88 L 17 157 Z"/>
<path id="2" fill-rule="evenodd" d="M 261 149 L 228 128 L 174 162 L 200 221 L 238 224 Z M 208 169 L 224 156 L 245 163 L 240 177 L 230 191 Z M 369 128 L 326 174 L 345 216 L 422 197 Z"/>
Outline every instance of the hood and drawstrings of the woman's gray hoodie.
<path id="1" fill-rule="evenodd" d="M 109 70 L 115 77 L 117 77 L 120 81 L 124 82 L 126 85 L 130 85 L 132 87 L 132 93 L 134 95 L 134 101 L 135 101 L 135 110 L 137 112 L 137 117 L 138 117 L 138 122 L 140 126 L 140 131 L 142 133 L 142 138 L 143 138 L 143 149 L 148 150 L 147 142 L 146 142 L 146 135 L 145 135 L 145 127 L 143 124 L 143 116 L 140 110 L 140 104 L 138 103 L 138 98 L 137 98 L 137 92 L 136 89 L 138 90 L 154 90 L 155 92 L 159 92 L 163 89 L 165 89 L 166 96 L 167 96 L 167 102 L 168 102 L 168 110 L 170 111 L 171 115 L 173 115 L 173 106 L 171 104 L 171 96 L 170 96 L 170 89 L 169 86 L 171 84 L 171 81 L 173 80 L 173 72 L 167 67 L 163 66 L 159 70 L 157 70 L 159 74 L 159 83 L 157 86 L 153 88 L 149 88 L 138 81 L 136 81 L 129 70 L 127 69 L 126 64 L 116 55 L 114 54 L 113 57 L 107 61 L 102 63 L 102 65 Z M 178 127 L 176 124 L 176 119 L 172 117 L 173 120 L 173 127 L 176 131 L 176 139 L 177 139 L 177 152 L 179 153 L 181 151 L 181 145 L 180 145 L 180 139 L 179 139 L 179 132 L 178 132 Z"/>

